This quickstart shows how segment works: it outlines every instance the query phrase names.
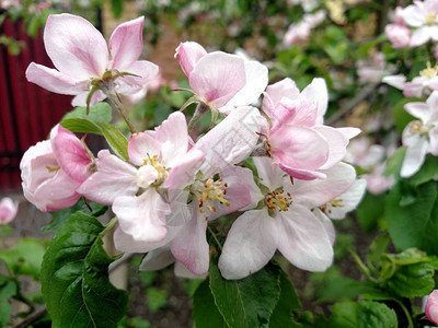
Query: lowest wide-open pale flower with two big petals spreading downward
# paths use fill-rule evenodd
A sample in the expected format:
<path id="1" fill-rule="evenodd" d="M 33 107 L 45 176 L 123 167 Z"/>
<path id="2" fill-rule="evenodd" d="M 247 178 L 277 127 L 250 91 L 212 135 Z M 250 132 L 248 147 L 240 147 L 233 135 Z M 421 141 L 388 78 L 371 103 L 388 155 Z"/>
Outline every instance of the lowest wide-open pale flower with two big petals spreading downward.
<path id="1" fill-rule="evenodd" d="M 242 279 L 254 273 L 276 249 L 300 269 L 327 269 L 333 260 L 332 236 L 311 210 L 346 191 L 355 179 L 355 169 L 338 163 L 327 169 L 325 179 L 291 184 L 268 157 L 254 157 L 254 163 L 260 184 L 266 188 L 253 194 L 253 202 L 263 201 L 264 207 L 244 212 L 231 226 L 219 258 L 222 276 Z"/>

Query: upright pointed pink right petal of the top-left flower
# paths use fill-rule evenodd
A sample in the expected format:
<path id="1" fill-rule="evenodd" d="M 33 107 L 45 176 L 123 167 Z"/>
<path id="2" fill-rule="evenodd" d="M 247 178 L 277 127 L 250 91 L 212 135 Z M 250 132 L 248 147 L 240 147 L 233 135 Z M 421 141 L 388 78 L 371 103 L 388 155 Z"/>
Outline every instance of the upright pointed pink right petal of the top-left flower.
<path id="1" fill-rule="evenodd" d="M 112 68 L 124 71 L 143 51 L 145 16 L 123 23 L 114 30 L 110 38 Z"/>

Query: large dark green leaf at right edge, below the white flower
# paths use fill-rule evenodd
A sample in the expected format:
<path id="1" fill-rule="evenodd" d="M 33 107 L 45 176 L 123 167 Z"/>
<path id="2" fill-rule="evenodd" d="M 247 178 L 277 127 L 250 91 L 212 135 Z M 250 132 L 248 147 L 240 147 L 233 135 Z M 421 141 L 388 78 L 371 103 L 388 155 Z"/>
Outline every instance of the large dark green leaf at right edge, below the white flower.
<path id="1" fill-rule="evenodd" d="M 387 198 L 385 219 L 391 239 L 399 250 L 417 247 L 430 255 L 438 255 L 437 183 L 418 186 L 415 200 L 401 206 L 403 186 L 396 184 Z M 412 190 L 412 189 L 410 189 Z"/>

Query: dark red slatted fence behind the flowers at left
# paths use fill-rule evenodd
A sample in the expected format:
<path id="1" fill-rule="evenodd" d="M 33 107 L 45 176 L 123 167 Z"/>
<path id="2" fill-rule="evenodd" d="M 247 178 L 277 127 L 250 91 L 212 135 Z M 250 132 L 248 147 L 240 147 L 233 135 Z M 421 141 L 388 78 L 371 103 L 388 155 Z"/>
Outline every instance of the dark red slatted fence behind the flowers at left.
<path id="1" fill-rule="evenodd" d="M 54 67 L 42 33 L 31 38 L 21 22 L 5 20 L 1 34 L 26 45 L 18 56 L 0 46 L 0 191 L 5 191 L 21 188 L 19 165 L 23 153 L 46 139 L 51 127 L 71 109 L 71 96 L 50 93 L 25 78 L 32 61 Z"/>

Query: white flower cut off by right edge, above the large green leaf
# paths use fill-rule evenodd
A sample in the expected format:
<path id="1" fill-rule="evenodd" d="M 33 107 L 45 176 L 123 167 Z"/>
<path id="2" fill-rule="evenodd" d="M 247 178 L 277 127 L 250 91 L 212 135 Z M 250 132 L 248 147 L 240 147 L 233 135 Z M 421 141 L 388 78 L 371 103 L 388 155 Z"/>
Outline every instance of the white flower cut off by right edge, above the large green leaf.
<path id="1" fill-rule="evenodd" d="M 406 126 L 402 136 L 407 150 L 400 175 L 410 177 L 419 171 L 427 153 L 438 156 L 438 92 L 434 91 L 426 103 L 408 103 L 404 108 L 418 118 Z"/>

